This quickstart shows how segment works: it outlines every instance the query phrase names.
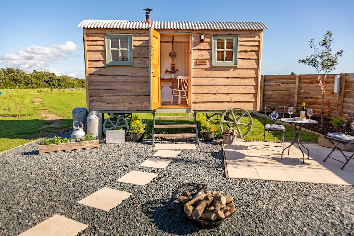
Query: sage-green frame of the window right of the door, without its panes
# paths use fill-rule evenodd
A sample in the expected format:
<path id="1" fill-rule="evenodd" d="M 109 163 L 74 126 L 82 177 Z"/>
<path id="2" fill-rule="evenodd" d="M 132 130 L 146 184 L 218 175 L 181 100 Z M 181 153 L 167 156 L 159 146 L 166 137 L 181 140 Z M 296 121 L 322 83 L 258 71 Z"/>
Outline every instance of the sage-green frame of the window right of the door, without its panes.
<path id="1" fill-rule="evenodd" d="M 216 61 L 216 52 L 219 51 L 217 49 L 217 39 L 224 38 L 224 39 L 233 39 L 234 40 L 234 58 L 232 62 L 217 62 Z M 237 67 L 238 65 L 238 56 L 239 56 L 239 35 L 213 35 L 212 38 L 212 66 L 214 67 Z"/>

